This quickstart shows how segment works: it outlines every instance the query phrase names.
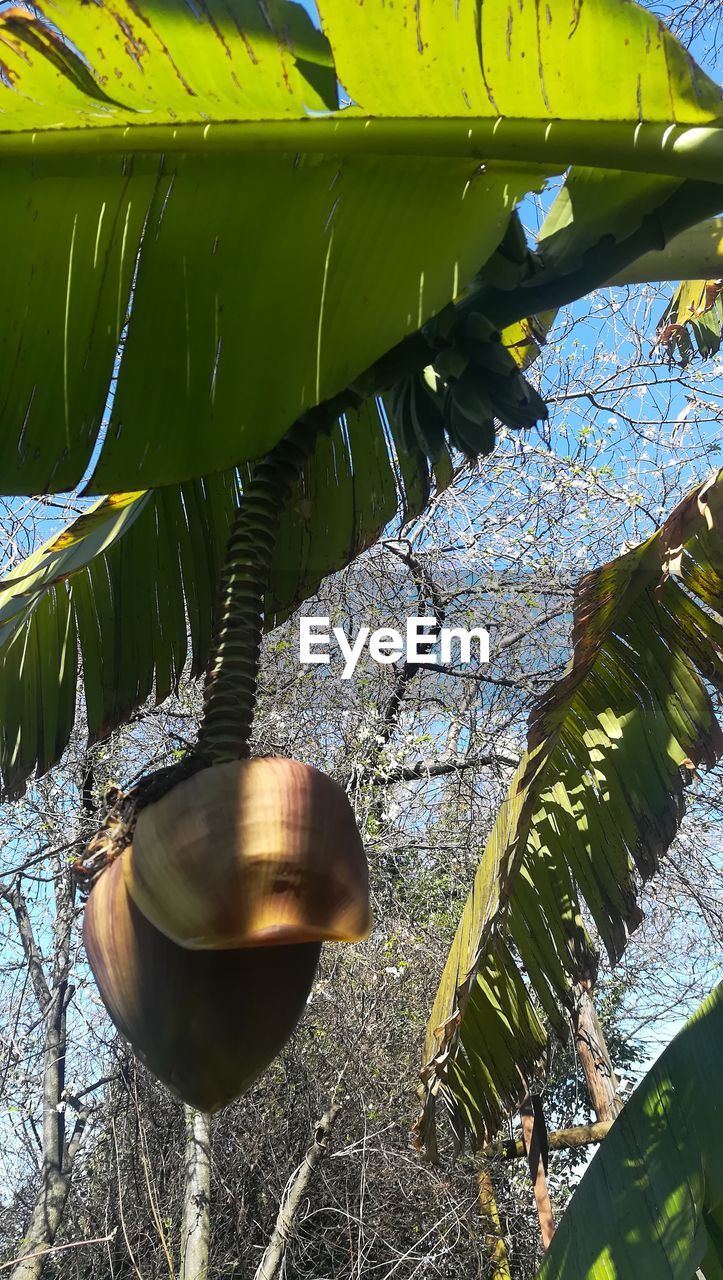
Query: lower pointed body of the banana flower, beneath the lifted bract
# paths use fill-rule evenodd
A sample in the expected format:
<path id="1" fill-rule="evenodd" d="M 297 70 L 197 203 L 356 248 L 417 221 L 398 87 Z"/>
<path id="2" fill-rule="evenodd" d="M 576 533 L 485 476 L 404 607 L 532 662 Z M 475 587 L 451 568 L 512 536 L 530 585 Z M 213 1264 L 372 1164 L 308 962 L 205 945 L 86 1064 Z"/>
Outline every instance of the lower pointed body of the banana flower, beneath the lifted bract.
<path id="1" fill-rule="evenodd" d="M 123 854 L 93 888 L 83 938 L 104 1004 L 138 1057 L 184 1102 L 218 1111 L 280 1051 L 301 1016 L 320 943 L 188 951 L 129 897 Z"/>

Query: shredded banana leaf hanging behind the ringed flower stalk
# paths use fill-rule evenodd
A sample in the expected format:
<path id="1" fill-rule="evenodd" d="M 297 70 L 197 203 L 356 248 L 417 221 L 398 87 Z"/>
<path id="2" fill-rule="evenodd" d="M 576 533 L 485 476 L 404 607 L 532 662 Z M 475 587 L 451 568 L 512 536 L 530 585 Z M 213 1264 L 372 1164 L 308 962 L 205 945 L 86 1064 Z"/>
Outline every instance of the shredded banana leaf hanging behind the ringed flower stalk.
<path id="1" fill-rule="evenodd" d="M 369 547 L 395 515 L 415 516 L 431 476 L 392 439 L 372 401 L 322 436 L 276 540 L 267 626 Z M 443 451 L 438 488 L 450 475 Z M 220 566 L 246 476 L 220 472 L 104 498 L 0 584 L 0 780 L 17 794 L 63 754 L 84 690 L 90 740 L 151 694 L 206 666 Z M 82 663 L 79 662 L 82 658 Z"/>

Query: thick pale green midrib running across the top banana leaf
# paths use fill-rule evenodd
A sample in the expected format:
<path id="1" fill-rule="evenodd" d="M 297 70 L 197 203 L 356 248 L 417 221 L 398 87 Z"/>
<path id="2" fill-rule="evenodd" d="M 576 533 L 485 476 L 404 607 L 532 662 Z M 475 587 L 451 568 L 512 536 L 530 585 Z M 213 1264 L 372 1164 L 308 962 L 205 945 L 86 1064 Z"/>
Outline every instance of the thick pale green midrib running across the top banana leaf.
<path id="1" fill-rule="evenodd" d="M 723 124 L 723 122 L 722 122 Z M 550 120 L 495 116 L 285 116 L 269 120 L 52 125 L 0 131 L 0 152 L 77 155 L 170 152 L 325 152 L 418 155 L 550 166 L 618 169 L 711 180 L 723 161 L 723 127 L 676 122 Z"/>

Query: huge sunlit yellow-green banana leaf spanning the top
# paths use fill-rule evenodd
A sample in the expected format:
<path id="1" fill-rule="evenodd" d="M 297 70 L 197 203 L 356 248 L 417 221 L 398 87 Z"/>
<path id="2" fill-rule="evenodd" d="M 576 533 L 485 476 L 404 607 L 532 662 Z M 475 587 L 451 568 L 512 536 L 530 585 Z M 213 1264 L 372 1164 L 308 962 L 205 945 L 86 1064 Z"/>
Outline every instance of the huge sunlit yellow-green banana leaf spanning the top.
<path id="1" fill-rule="evenodd" d="M 257 457 L 448 303 L 545 174 L 667 175 L 618 193 L 651 247 L 669 188 L 719 173 L 718 87 L 628 0 L 320 9 L 324 36 L 292 0 L 0 13 L 3 492 Z"/>

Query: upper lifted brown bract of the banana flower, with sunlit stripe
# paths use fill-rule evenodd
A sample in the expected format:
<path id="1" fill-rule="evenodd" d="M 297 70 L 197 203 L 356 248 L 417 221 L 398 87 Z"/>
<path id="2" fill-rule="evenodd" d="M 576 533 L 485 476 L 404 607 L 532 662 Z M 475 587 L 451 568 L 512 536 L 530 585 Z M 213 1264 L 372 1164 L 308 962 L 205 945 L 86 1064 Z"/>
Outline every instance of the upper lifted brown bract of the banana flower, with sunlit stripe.
<path id="1" fill-rule="evenodd" d="M 354 942 L 370 928 L 366 856 L 337 782 L 282 758 L 218 764 L 138 817 L 127 887 L 180 946 Z"/>

